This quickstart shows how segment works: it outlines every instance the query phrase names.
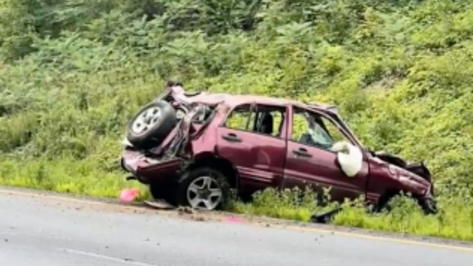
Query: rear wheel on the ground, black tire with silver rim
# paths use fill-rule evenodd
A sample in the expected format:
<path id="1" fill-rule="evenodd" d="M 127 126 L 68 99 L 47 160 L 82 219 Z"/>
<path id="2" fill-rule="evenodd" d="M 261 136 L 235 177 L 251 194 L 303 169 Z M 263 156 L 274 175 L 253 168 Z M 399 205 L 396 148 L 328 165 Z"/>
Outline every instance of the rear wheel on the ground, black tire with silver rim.
<path id="1" fill-rule="evenodd" d="M 228 203 L 230 185 L 219 171 L 209 167 L 200 167 L 184 173 L 177 193 L 180 205 L 214 210 Z"/>

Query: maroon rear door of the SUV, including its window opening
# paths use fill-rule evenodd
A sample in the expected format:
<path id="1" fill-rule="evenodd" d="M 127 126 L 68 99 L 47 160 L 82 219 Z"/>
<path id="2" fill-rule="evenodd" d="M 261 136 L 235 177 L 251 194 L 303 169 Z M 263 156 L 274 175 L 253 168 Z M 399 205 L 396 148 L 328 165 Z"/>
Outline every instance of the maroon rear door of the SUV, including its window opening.
<path id="1" fill-rule="evenodd" d="M 243 104 L 218 128 L 217 153 L 236 166 L 241 192 L 279 186 L 286 159 L 286 132 L 282 130 L 286 116 L 282 106 Z"/>

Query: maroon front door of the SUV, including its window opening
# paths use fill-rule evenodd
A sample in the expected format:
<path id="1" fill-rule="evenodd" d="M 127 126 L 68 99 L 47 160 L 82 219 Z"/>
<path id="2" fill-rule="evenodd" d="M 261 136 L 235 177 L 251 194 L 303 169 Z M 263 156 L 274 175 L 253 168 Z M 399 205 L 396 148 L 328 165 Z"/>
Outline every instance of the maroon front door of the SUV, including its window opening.
<path id="1" fill-rule="evenodd" d="M 283 187 L 310 186 L 317 193 L 330 188 L 331 199 L 342 201 L 364 195 L 368 163 L 354 177 L 346 176 L 330 150 L 337 141 L 349 141 L 336 122 L 322 113 L 295 107 L 292 110 Z M 330 129 L 330 131 L 329 131 Z"/>

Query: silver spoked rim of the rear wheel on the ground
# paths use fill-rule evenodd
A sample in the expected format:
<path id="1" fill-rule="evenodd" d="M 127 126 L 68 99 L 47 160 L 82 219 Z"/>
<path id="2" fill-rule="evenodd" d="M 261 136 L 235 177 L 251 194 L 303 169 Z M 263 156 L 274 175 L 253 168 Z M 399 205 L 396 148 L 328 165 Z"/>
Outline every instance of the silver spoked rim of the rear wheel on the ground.
<path id="1" fill-rule="evenodd" d="M 187 201 L 193 208 L 215 209 L 222 201 L 222 189 L 211 176 L 201 176 L 187 188 Z"/>

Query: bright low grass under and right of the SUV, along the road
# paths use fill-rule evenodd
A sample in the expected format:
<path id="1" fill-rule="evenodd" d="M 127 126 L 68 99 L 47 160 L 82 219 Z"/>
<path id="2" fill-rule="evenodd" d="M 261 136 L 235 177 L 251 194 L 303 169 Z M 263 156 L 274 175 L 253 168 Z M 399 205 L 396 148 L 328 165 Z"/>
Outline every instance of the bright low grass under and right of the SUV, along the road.
<path id="1" fill-rule="evenodd" d="M 397 196 L 390 202 L 391 210 L 374 213 L 363 199 L 316 203 L 315 195 L 306 191 L 267 189 L 254 195 L 251 203 L 236 202 L 231 210 L 250 216 L 268 216 L 309 222 L 313 214 L 321 214 L 338 206 L 342 210 L 333 218 L 334 225 L 379 231 L 409 233 L 473 241 L 473 206 L 458 199 L 439 199 L 439 213 L 425 215 L 416 202 Z"/>

